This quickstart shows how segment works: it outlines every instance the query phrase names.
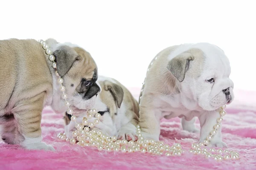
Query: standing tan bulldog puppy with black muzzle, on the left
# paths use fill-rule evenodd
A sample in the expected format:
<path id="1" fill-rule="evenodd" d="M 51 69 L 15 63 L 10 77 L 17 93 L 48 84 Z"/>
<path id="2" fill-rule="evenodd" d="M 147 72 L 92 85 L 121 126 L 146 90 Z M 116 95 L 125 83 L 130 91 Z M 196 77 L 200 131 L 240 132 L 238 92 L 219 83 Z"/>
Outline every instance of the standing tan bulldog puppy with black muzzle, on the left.
<path id="1" fill-rule="evenodd" d="M 97 66 L 91 55 L 71 43 L 46 43 L 55 56 L 67 100 L 75 112 L 93 107 L 99 92 Z M 67 110 L 61 99 L 52 61 L 36 40 L 0 40 L 0 135 L 9 144 L 27 149 L 54 150 L 41 137 L 45 106 L 56 113 Z"/>

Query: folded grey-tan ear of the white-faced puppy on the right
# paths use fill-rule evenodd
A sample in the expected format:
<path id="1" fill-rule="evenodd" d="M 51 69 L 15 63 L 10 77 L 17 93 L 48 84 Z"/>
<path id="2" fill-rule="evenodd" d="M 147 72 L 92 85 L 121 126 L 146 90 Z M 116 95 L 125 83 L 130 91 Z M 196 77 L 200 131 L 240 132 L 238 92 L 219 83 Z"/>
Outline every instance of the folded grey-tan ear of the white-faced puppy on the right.
<path id="1" fill-rule="evenodd" d="M 189 52 L 183 52 L 177 55 L 167 65 L 167 69 L 170 70 L 172 75 L 182 82 L 185 78 L 186 71 L 189 69 L 190 61 L 194 60 L 194 56 Z"/>

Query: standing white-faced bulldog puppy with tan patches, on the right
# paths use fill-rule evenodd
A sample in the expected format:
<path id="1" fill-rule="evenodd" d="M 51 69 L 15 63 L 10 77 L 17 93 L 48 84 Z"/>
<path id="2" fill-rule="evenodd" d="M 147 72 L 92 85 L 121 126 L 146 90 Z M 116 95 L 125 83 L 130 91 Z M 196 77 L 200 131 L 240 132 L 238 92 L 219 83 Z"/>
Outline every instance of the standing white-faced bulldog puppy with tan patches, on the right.
<path id="1" fill-rule="evenodd" d="M 209 43 L 182 44 L 161 51 L 148 67 L 140 94 L 139 124 L 143 136 L 159 140 L 160 120 L 182 118 L 183 130 L 198 132 L 203 142 L 217 124 L 219 107 L 233 101 L 230 63 L 223 50 Z M 210 144 L 227 145 L 221 128 Z"/>

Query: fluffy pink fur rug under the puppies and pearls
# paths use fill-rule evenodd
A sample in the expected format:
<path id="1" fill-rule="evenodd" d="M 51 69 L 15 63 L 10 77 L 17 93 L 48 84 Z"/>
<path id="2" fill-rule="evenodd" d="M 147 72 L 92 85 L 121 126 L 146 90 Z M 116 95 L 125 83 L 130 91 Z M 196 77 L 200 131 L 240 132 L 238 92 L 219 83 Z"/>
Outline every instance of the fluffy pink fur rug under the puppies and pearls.
<path id="1" fill-rule="evenodd" d="M 130 88 L 138 98 L 140 89 Z M 235 101 L 227 106 L 223 121 L 223 141 L 229 150 L 239 152 L 239 160 L 217 162 L 203 155 L 185 153 L 182 156 L 153 156 L 143 153 L 106 153 L 95 147 L 79 147 L 59 141 L 57 134 L 63 132 L 62 115 L 47 107 L 42 118 L 43 140 L 55 147 L 56 152 L 24 150 L 17 145 L 0 144 L 1 170 L 184 170 L 184 169 L 256 169 L 256 92 L 236 91 Z M 197 121 L 199 127 L 199 122 Z M 180 119 L 161 122 L 160 140 L 172 145 L 177 142 L 188 150 L 198 141 L 199 134 L 181 129 Z"/>

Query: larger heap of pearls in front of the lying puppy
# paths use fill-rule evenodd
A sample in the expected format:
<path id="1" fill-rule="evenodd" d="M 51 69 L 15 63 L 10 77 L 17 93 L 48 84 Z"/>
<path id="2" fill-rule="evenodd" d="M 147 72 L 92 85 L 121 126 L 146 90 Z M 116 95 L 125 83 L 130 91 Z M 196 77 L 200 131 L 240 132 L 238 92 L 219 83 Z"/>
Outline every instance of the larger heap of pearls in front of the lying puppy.
<path id="1" fill-rule="evenodd" d="M 137 125 L 136 130 L 138 140 L 135 142 L 127 141 L 125 139 L 118 140 L 116 136 L 109 137 L 101 130 L 90 130 L 89 127 L 93 127 L 90 125 L 97 124 L 96 122 L 98 122 L 95 120 L 94 122 L 90 122 L 93 115 L 95 115 L 97 118 L 95 120 L 100 118 L 100 114 L 97 113 L 95 109 L 89 109 L 87 116 L 83 118 L 82 123 L 76 123 L 75 127 L 77 130 L 73 131 L 73 137 L 71 139 L 68 139 L 65 133 L 59 133 L 58 138 L 70 141 L 70 144 L 78 144 L 81 147 L 97 147 L 99 151 L 121 151 L 122 153 L 141 152 L 166 156 L 180 156 L 182 153 L 184 153 L 184 150 L 181 148 L 181 144 L 176 143 L 170 147 L 169 144 L 165 144 L 163 141 L 156 142 L 154 140 L 144 139 L 142 137 L 142 132 L 139 125 Z M 75 120 L 75 118 L 72 117 L 71 120 Z M 89 125 L 89 127 L 84 127 L 84 125 Z M 77 143 L 76 140 L 78 141 Z"/>

